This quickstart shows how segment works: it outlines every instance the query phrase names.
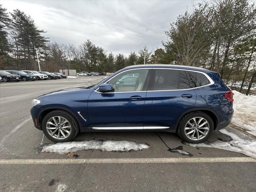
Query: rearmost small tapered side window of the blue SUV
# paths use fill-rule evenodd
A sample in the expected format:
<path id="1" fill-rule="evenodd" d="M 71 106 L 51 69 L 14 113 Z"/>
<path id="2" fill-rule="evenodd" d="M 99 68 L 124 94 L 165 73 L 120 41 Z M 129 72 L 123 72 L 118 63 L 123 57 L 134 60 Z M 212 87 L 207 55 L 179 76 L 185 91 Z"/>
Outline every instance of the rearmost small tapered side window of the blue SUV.
<path id="1" fill-rule="evenodd" d="M 202 73 L 192 72 L 192 71 L 187 71 L 187 73 L 190 78 L 191 88 L 210 84 L 210 81 L 208 80 L 208 78 L 206 78 L 206 76 Z"/>

